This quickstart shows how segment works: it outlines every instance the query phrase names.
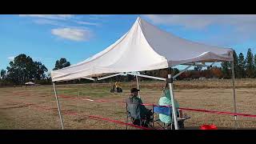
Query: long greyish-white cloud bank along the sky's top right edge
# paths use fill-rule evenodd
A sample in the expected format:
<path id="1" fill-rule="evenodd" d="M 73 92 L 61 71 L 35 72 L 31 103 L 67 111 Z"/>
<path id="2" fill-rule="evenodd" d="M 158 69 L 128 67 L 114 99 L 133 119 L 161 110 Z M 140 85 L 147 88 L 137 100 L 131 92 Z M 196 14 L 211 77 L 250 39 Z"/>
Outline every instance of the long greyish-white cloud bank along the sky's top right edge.
<path id="1" fill-rule="evenodd" d="M 245 27 L 251 28 L 256 24 L 256 14 L 145 14 L 142 16 L 149 18 L 155 24 L 185 26 L 191 29 L 219 24 L 237 26 L 238 29 L 245 30 Z"/>

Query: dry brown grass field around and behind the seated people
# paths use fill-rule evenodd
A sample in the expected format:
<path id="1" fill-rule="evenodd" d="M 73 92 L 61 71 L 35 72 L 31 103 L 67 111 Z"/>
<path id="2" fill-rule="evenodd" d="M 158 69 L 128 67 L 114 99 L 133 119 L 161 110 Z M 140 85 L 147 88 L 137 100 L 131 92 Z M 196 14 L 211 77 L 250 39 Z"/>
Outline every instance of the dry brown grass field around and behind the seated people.
<path id="1" fill-rule="evenodd" d="M 237 106 L 238 113 L 256 114 L 256 80 L 238 79 Z M 82 115 L 97 115 L 126 122 L 125 105 L 109 102 L 89 102 L 82 98 L 107 99 L 124 101 L 135 82 L 122 83 L 124 93 L 111 94 L 110 83 L 85 85 L 57 85 L 58 94 L 78 98 L 59 98 L 62 113 L 77 112 L 79 116 L 63 114 L 66 129 L 126 129 L 126 126 L 103 122 Z M 163 82 L 140 83 L 142 101 L 158 103 L 162 93 Z M 181 107 L 234 111 L 233 94 L 230 80 L 212 81 L 178 81 L 174 83 L 175 98 Z M 0 129 L 60 129 L 58 110 L 52 86 L 9 87 L 0 88 Z M 42 109 L 46 108 L 46 109 Z M 47 110 L 47 108 L 51 108 Z M 220 128 L 233 129 L 234 117 L 224 114 L 207 114 L 202 112 L 184 111 L 191 118 L 186 121 L 186 127 L 198 128 L 202 124 L 214 123 Z M 255 118 L 238 117 L 239 128 L 256 128 Z M 131 128 L 130 129 L 134 129 Z"/>

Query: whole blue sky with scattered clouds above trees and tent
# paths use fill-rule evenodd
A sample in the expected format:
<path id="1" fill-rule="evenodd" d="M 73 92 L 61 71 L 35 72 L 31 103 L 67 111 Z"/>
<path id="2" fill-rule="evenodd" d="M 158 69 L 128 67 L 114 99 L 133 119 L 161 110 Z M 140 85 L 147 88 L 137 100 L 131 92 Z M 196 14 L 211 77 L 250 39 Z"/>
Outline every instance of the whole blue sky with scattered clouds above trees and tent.
<path id="1" fill-rule="evenodd" d="M 182 38 L 256 54 L 256 15 L 17 14 L 0 15 L 0 69 L 18 54 L 48 70 L 59 58 L 81 62 L 126 34 L 138 16 Z"/>

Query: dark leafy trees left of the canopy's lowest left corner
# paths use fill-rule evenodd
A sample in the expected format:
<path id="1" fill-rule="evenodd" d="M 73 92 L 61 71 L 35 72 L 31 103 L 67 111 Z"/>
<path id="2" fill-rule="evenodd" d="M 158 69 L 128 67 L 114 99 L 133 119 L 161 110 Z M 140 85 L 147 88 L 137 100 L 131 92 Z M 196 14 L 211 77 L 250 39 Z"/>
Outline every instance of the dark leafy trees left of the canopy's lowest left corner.
<path id="1" fill-rule="evenodd" d="M 38 84 L 50 84 L 50 74 L 46 74 L 48 69 L 42 62 L 34 61 L 26 54 L 19 54 L 14 58 L 13 62 L 6 70 L 0 72 L 0 86 L 22 86 L 26 82 L 34 82 Z M 70 66 L 70 62 L 66 58 L 60 58 L 55 62 L 54 70 L 62 69 Z"/>

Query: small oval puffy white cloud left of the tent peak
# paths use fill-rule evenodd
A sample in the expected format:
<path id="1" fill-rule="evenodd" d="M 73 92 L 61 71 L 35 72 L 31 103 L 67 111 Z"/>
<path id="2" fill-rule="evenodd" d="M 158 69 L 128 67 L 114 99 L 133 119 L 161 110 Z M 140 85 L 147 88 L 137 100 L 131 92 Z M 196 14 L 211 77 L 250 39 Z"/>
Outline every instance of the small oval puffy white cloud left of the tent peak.
<path id="1" fill-rule="evenodd" d="M 74 41 L 88 41 L 92 37 L 90 30 L 84 29 L 58 28 L 51 30 L 51 33 Z"/>

